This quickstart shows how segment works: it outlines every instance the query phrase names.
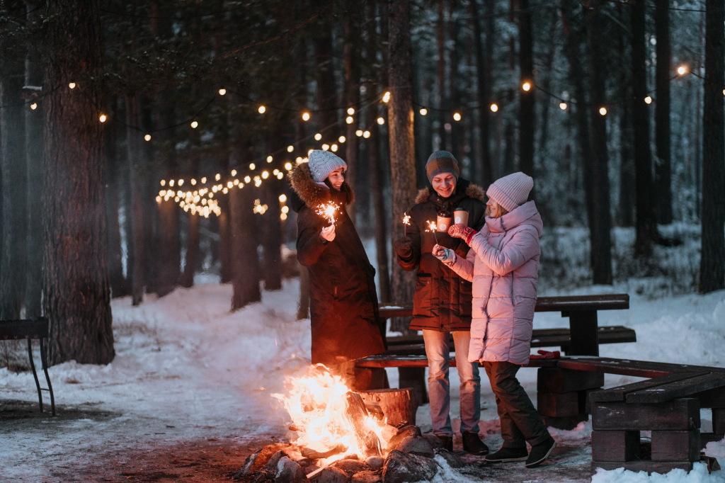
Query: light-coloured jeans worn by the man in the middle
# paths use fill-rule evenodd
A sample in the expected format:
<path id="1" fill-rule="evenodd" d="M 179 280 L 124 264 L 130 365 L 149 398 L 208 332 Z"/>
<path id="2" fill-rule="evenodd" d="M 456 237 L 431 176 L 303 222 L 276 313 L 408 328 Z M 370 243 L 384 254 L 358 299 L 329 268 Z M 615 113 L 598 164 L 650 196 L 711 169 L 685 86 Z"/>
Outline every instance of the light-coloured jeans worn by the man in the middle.
<path id="1" fill-rule="evenodd" d="M 428 399 L 431 401 L 433 433 L 452 436 L 450 409 L 450 332 L 423 331 L 428 358 Z M 453 331 L 455 360 L 460 379 L 460 430 L 479 432 L 481 418 L 481 376 L 479 363 L 468 362 L 471 332 Z"/>

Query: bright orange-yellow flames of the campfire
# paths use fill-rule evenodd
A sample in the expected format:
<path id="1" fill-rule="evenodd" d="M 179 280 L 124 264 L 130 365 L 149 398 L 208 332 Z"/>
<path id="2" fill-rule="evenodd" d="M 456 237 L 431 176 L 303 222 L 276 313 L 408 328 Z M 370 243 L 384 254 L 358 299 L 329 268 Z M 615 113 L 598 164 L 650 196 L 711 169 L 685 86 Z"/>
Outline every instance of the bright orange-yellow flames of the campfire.
<path id="1" fill-rule="evenodd" d="M 318 453 L 339 447 L 338 454 L 322 458 L 320 463 L 323 465 L 351 453 L 364 461 L 365 450 L 360 447 L 347 416 L 347 393 L 350 389 L 343 379 L 330 373 L 323 364 L 315 364 L 305 375 L 288 377 L 286 382 L 290 387 L 289 395 L 273 394 L 272 397 L 280 400 L 289 413 L 294 431 L 298 434 L 293 443 Z M 386 425 L 370 416 L 364 422 L 384 446 L 386 439 L 382 431 Z"/>

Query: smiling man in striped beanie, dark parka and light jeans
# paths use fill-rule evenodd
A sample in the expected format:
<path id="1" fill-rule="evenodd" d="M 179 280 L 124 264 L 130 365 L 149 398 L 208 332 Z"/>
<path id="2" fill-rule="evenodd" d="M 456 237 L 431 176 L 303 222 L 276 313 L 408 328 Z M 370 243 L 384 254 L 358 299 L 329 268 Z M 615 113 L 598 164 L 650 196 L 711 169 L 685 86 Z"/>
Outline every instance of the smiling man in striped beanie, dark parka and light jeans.
<path id="1" fill-rule="evenodd" d="M 468 226 L 479 231 L 485 223 L 485 192 L 460 178 L 458 163 L 450 152 L 436 151 L 426 164 L 431 188 L 421 189 L 410 210 L 408 236 L 395 241 L 398 264 L 406 271 L 418 269 L 413 295 L 413 322 L 410 329 L 422 330 L 428 358 L 428 397 L 431 402 L 433 433 L 444 447 L 453 450 L 453 432 L 449 415 L 448 380 L 451 332 L 460 379 L 460 418 L 463 449 L 485 455 L 488 447 L 479 437 L 481 416 L 481 378 L 479 364 L 468 363 L 471 341 L 471 282 L 440 263 L 431 251 L 437 244 L 465 258 L 468 245 L 447 232 L 431 233 L 428 222 L 435 223 L 439 211 L 468 210 Z"/>

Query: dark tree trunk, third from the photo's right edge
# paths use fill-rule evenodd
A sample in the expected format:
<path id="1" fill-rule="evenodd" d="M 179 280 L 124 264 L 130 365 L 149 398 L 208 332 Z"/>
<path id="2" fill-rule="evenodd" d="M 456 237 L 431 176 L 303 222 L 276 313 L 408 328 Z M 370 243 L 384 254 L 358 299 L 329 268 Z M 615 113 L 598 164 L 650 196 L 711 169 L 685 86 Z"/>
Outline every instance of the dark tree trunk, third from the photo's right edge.
<path id="1" fill-rule="evenodd" d="M 655 231 L 652 198 L 652 153 L 650 152 L 650 113 L 647 112 L 647 46 L 645 45 L 645 0 L 631 3 L 632 31 L 632 128 L 634 131 L 634 170 L 637 183 L 637 256 L 652 255 Z"/>

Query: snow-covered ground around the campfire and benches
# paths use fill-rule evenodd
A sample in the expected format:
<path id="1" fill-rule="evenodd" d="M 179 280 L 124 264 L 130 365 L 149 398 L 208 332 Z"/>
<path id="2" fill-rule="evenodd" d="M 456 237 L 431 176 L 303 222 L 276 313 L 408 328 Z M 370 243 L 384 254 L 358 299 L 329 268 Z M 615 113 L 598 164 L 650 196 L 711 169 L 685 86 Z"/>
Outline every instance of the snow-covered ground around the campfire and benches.
<path id="1" fill-rule="evenodd" d="M 374 260 L 374 255 L 370 258 Z M 128 298 L 113 300 L 115 360 L 107 366 L 70 362 L 49 371 L 61 417 L 45 413 L 37 424 L 5 418 L 9 406 L 19 401 L 36 404 L 37 395 L 31 373 L 1 368 L 0 482 L 97 481 L 71 479 L 68 474 L 72 468 L 101 468 L 106 458 L 120 458 L 123 463 L 130 448 L 151 452 L 216 438 L 252 445 L 270 435 L 291 436 L 286 414 L 270 394 L 282 392 L 284 376 L 304 370 L 310 360 L 310 323 L 294 320 L 297 281 L 285 281 L 280 292 L 264 292 L 262 302 L 236 313 L 229 311 L 231 286 L 214 283 L 213 278 L 207 281 L 162 299 L 146 297 L 139 307 L 131 307 Z M 617 282 L 566 293 L 629 292 L 630 288 Z M 542 287 L 542 293 L 555 294 L 557 289 Z M 604 345 L 602 355 L 725 366 L 725 292 L 655 298 L 652 292 L 630 294 L 630 310 L 600 312 L 599 323 L 631 327 L 638 342 Z M 568 319 L 558 313 L 537 313 L 534 321 L 535 328 L 567 324 Z M 523 369 L 519 375 L 535 402 L 536 371 Z M 457 429 L 455 369 L 450 376 Z M 481 378 L 481 434 L 496 449 L 501 439 L 495 402 L 483 371 Z M 396 371 L 390 371 L 389 379 L 393 386 L 397 383 Z M 613 386 L 628 381 L 634 379 L 607 376 L 605 382 Z M 47 402 L 47 394 L 44 397 Z M 702 418 L 703 431 L 710 430 L 708 410 L 703 410 Z M 423 431 L 430 429 L 427 405 L 418 410 L 418 424 Z M 550 432 L 561 448 L 550 465 L 526 471 L 511 465 L 464 470 L 461 481 L 501 481 L 503 474 L 508 474 L 505 481 L 586 481 L 591 424 L 572 432 Z M 710 443 L 707 453 L 725 459 L 725 441 Z M 725 482 L 725 471 L 708 475 L 697 463 L 689 475 L 673 471 L 648 477 L 605 471 L 594 481 L 714 483 Z"/>

